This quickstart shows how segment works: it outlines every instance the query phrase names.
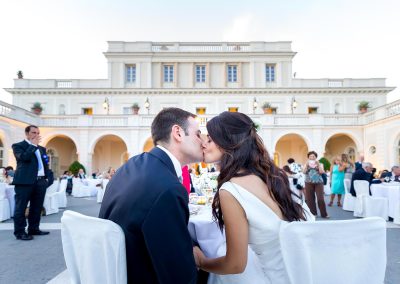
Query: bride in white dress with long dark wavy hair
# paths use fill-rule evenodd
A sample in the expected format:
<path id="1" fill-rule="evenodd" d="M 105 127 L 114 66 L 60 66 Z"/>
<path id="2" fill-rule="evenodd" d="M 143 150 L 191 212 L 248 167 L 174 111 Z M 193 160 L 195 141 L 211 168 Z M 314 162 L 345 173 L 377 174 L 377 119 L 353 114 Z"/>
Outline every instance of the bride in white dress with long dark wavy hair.
<path id="1" fill-rule="evenodd" d="M 248 116 L 223 112 L 207 130 L 204 159 L 220 167 L 213 215 L 225 229 L 226 255 L 207 258 L 195 247 L 197 266 L 211 273 L 209 283 L 289 283 L 279 229 L 285 222 L 306 220 L 299 197 Z"/>

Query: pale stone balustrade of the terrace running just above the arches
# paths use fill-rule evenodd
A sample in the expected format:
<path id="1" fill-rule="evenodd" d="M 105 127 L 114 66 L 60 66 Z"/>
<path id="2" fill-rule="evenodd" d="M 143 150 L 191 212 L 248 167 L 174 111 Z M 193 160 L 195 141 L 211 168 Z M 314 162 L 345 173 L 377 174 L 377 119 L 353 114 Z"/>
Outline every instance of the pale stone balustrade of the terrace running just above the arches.
<path id="1" fill-rule="evenodd" d="M 262 128 L 363 126 L 400 115 L 400 100 L 372 109 L 365 114 L 268 114 L 249 115 Z M 148 115 L 41 115 L 0 102 L 0 117 L 40 127 L 57 128 L 149 128 L 155 114 Z M 201 127 L 214 117 L 199 116 Z"/>

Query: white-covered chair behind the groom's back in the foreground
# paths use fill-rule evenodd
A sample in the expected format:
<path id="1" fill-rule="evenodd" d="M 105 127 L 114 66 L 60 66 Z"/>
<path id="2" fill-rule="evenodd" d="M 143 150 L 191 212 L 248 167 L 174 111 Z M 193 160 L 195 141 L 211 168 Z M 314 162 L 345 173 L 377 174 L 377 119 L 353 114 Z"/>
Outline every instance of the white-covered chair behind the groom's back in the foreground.
<path id="1" fill-rule="evenodd" d="M 67 210 L 61 218 L 61 239 L 71 283 L 127 283 L 120 226 Z"/>

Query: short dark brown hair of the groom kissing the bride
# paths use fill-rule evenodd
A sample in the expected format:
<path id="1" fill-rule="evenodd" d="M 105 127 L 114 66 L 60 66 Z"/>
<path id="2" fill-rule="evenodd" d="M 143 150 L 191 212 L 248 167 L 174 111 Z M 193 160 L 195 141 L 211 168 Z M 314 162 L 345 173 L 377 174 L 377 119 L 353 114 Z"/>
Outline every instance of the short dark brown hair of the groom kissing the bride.
<path id="1" fill-rule="evenodd" d="M 175 124 L 183 128 L 185 135 L 189 135 L 189 117 L 195 118 L 196 115 L 175 107 L 164 108 L 160 111 L 151 124 L 151 137 L 153 138 L 154 145 L 158 145 L 159 142 L 169 143 L 171 128 Z"/>

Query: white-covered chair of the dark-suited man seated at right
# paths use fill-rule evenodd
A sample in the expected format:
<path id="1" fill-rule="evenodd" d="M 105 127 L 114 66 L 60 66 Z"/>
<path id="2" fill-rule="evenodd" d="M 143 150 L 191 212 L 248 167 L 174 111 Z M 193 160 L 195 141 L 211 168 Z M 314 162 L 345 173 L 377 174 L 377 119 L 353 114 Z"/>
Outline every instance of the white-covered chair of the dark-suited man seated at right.
<path id="1" fill-rule="evenodd" d="M 388 220 L 389 202 L 385 197 L 373 197 L 369 195 L 369 182 L 355 180 L 354 190 L 357 197 L 354 205 L 355 217 L 381 217 Z"/>

